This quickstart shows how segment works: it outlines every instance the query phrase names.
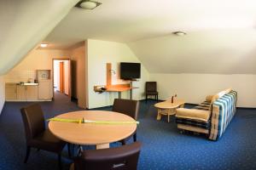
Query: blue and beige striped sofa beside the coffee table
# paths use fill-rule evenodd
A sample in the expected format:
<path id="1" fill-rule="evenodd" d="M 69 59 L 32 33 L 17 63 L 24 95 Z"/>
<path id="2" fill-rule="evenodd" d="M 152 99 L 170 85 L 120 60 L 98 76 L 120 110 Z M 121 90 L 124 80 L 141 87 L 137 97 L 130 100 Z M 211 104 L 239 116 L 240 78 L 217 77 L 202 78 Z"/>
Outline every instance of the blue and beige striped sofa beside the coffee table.
<path id="1" fill-rule="evenodd" d="M 205 133 L 209 139 L 218 140 L 236 113 L 237 93 L 226 89 L 207 96 L 206 101 L 192 109 L 179 108 L 176 112 L 177 128 Z"/>

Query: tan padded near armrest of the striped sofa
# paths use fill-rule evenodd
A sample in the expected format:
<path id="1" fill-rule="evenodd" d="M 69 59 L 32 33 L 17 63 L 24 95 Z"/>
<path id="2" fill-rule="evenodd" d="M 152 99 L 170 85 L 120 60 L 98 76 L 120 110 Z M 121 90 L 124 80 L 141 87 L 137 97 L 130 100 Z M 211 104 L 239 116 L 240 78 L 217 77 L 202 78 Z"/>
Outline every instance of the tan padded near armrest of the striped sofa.
<path id="1" fill-rule="evenodd" d="M 185 109 L 178 108 L 176 110 L 177 118 L 185 118 L 207 122 L 211 115 L 211 111 L 197 110 L 197 109 Z"/>

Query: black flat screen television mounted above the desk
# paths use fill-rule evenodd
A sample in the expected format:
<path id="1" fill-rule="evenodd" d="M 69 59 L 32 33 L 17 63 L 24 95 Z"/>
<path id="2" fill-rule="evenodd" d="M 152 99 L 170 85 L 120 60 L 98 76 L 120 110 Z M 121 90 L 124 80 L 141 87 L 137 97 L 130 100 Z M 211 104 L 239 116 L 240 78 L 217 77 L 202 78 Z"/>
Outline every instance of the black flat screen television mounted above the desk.
<path id="1" fill-rule="evenodd" d="M 132 80 L 141 77 L 140 63 L 120 63 L 120 78 L 125 80 Z"/>

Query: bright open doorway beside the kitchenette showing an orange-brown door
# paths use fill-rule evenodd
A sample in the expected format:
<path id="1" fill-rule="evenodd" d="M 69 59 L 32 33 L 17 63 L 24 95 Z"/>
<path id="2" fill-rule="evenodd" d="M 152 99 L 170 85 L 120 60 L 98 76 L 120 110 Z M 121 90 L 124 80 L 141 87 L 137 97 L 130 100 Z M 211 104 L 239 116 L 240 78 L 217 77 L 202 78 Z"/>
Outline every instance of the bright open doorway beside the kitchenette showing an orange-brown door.
<path id="1" fill-rule="evenodd" d="M 71 98 L 72 87 L 70 59 L 53 59 L 53 87 L 54 94 L 65 94 Z"/>

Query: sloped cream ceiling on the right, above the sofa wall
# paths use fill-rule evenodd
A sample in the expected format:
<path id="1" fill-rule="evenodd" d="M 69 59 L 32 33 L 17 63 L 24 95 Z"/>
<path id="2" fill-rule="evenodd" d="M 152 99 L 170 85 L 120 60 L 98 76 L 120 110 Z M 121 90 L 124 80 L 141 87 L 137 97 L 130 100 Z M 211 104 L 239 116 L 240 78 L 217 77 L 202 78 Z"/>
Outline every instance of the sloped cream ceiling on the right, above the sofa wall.
<path id="1" fill-rule="evenodd" d="M 130 42 L 150 73 L 256 74 L 256 31 L 217 29 Z"/>

